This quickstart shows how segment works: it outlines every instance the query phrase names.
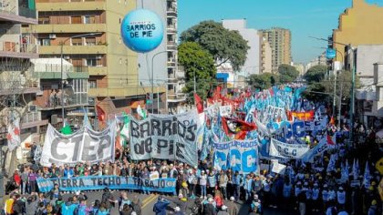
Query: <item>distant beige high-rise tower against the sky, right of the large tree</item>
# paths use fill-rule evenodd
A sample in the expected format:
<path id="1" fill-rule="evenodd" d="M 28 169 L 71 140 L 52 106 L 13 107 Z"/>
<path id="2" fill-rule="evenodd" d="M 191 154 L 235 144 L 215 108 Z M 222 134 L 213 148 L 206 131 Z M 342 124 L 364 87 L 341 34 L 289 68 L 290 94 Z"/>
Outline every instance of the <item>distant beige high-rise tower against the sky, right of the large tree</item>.
<path id="1" fill-rule="evenodd" d="M 290 65 L 292 62 L 291 32 L 280 27 L 273 27 L 262 32 L 272 48 L 272 71 L 276 73 L 281 64 Z"/>

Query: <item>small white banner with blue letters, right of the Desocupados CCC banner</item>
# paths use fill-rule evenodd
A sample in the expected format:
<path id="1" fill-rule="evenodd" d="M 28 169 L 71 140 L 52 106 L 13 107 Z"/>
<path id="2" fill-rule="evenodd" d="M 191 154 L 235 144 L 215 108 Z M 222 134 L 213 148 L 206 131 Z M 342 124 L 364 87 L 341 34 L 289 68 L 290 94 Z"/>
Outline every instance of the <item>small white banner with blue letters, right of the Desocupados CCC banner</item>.
<path id="1" fill-rule="evenodd" d="M 272 138 L 270 156 L 282 159 L 301 159 L 309 148 L 306 144 L 287 144 Z"/>

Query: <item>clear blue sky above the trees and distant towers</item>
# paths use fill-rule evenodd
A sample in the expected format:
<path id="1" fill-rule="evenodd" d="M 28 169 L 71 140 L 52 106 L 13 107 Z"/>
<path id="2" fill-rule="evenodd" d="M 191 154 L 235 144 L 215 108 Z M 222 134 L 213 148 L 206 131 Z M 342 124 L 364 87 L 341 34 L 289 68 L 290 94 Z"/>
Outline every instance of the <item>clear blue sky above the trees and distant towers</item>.
<path id="1" fill-rule="evenodd" d="M 366 0 L 383 6 L 383 0 Z M 273 26 L 290 29 L 295 63 L 308 63 L 325 49 L 327 38 L 338 26 L 338 17 L 352 0 L 178 0 L 179 33 L 203 20 L 247 20 L 248 28 Z"/>

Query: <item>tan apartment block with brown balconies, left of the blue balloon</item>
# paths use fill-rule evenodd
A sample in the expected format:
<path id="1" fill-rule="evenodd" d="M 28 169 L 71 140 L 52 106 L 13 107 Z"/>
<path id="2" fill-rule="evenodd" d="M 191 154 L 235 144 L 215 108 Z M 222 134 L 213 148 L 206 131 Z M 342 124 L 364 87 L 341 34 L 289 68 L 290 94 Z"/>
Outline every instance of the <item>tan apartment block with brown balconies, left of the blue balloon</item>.
<path id="1" fill-rule="evenodd" d="M 80 84 L 81 92 L 88 88 L 88 101 L 72 106 L 88 104 L 89 112 L 99 106 L 109 118 L 145 99 L 150 88 L 140 86 L 137 53 L 124 46 L 120 36 L 121 21 L 136 9 L 135 1 L 36 0 L 36 9 L 38 25 L 24 32 L 38 34 L 40 57 L 60 58 L 62 51 L 76 77 L 88 76 L 88 82 Z M 70 80 L 65 83 L 77 86 Z M 56 87 L 57 80 L 51 84 Z"/>

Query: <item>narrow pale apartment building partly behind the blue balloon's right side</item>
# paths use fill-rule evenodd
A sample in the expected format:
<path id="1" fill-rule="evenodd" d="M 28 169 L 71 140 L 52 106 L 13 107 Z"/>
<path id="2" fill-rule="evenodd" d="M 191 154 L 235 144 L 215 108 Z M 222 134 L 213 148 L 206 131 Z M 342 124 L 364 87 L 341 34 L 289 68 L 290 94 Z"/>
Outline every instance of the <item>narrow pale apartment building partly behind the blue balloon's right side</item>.
<path id="1" fill-rule="evenodd" d="M 143 5 L 141 5 L 143 3 Z M 153 87 L 147 109 L 154 113 L 176 113 L 186 97 L 181 93 L 185 73 L 178 67 L 177 54 L 177 0 L 145 0 L 138 8 L 153 11 L 160 16 L 164 26 L 163 40 L 156 49 L 139 54 L 139 81 L 142 87 Z M 151 79 L 153 81 L 151 82 Z"/>

